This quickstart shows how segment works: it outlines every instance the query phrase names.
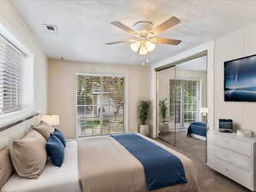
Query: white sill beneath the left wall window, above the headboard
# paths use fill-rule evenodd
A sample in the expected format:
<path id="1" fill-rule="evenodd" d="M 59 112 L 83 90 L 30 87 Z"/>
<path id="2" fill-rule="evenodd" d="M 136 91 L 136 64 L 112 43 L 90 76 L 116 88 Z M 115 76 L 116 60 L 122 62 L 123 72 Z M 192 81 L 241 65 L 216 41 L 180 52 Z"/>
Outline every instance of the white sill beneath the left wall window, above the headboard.
<path id="1" fill-rule="evenodd" d="M 12 113 L 0 115 L 0 127 L 15 123 L 16 121 L 31 116 L 34 113 L 38 112 L 34 109 L 22 109 Z"/>

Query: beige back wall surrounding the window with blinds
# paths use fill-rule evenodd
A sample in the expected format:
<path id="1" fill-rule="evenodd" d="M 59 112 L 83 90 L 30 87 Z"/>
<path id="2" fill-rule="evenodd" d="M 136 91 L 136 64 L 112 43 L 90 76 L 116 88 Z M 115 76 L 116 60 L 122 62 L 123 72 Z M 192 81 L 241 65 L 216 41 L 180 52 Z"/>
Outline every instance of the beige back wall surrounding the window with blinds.
<path id="1" fill-rule="evenodd" d="M 76 73 L 119 74 L 128 79 L 127 107 L 129 132 L 138 131 L 137 104 L 150 100 L 150 67 L 90 64 L 49 60 L 49 113 L 60 115 L 59 129 L 75 137 Z"/>

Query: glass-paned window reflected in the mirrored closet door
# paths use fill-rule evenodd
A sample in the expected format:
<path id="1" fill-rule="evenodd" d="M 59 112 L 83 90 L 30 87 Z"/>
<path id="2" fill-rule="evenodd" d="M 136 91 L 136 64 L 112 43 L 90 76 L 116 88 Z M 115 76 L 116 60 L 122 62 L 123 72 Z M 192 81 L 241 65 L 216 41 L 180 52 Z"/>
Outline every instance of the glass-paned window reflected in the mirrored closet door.
<path id="1" fill-rule="evenodd" d="M 186 129 L 199 119 L 199 81 L 170 80 L 170 117 L 177 129 Z"/>

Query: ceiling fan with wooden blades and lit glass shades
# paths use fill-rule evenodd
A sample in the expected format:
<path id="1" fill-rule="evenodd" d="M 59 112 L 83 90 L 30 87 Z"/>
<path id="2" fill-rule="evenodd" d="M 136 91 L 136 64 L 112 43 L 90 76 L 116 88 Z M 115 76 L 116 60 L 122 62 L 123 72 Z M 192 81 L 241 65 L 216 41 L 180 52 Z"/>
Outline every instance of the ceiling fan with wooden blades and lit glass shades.
<path id="1" fill-rule="evenodd" d="M 128 32 L 133 36 L 133 38 L 124 41 L 111 42 L 107 44 L 130 43 L 131 49 L 134 52 L 137 52 L 140 55 L 147 55 L 149 52 L 154 50 L 155 44 L 178 45 L 182 42 L 181 40 L 172 38 L 156 37 L 160 34 L 160 32 L 164 32 L 172 26 L 176 26 L 178 23 L 180 23 L 180 20 L 178 20 L 177 17 L 173 16 L 156 27 L 154 27 L 153 23 L 150 21 L 138 21 L 133 25 L 134 29 L 131 29 L 129 26 L 125 26 L 120 21 L 113 21 L 111 22 L 113 26 L 116 26 L 119 29 Z"/>

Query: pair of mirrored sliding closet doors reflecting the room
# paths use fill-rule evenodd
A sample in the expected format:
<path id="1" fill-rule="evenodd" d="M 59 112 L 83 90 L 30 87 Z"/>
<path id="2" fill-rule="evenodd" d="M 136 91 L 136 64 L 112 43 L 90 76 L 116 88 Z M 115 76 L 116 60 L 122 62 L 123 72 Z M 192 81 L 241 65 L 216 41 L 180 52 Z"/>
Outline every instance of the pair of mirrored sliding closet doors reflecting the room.
<path id="1" fill-rule="evenodd" d="M 158 137 L 206 161 L 207 55 L 157 72 Z"/>

